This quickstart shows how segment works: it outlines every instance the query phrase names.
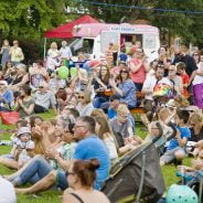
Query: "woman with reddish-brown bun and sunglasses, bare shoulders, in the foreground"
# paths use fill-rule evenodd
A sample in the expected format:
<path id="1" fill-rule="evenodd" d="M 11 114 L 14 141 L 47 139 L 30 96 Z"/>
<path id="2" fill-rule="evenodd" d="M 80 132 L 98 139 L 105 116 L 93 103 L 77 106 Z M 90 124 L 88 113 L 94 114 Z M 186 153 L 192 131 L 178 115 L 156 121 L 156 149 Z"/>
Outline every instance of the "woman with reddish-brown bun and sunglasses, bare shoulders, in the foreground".
<path id="1" fill-rule="evenodd" d="M 66 172 L 68 189 L 64 192 L 63 203 L 109 203 L 106 195 L 94 190 L 96 169 L 99 168 L 97 159 L 89 161 L 76 160 Z"/>

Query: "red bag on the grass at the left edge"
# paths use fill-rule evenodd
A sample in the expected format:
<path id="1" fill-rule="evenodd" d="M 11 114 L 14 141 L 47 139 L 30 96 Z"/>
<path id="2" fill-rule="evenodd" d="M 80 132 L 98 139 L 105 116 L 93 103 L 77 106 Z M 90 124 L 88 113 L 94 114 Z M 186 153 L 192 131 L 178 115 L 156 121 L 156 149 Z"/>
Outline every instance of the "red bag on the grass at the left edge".
<path id="1" fill-rule="evenodd" d="M 2 124 L 4 125 L 15 125 L 20 118 L 20 114 L 18 111 L 0 111 Z"/>

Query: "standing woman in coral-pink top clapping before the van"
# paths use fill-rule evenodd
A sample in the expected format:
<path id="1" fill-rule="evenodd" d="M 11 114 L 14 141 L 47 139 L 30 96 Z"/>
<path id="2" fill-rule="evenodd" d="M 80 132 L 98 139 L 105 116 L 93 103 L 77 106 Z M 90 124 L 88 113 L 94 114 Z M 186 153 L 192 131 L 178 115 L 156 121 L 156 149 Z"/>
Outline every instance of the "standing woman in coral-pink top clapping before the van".
<path id="1" fill-rule="evenodd" d="M 135 83 L 138 92 L 142 89 L 146 73 L 149 71 L 147 58 L 142 49 L 137 49 L 133 58 L 130 61 L 130 78 Z"/>

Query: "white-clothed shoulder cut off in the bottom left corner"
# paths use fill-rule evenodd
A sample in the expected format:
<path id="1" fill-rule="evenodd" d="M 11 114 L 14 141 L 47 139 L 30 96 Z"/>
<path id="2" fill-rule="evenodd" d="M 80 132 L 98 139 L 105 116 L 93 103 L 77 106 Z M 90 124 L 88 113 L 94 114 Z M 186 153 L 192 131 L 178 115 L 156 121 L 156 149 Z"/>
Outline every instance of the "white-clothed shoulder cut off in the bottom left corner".
<path id="1" fill-rule="evenodd" d="M 15 192 L 13 185 L 0 177 L 0 203 L 15 203 Z"/>

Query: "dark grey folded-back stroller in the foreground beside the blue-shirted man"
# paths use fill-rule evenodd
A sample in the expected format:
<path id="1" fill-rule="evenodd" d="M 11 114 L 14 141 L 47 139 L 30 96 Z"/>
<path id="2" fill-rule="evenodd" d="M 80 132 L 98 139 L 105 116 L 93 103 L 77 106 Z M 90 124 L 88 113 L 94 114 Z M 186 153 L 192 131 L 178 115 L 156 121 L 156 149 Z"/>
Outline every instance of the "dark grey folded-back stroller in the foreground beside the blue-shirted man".
<path id="1" fill-rule="evenodd" d="M 159 165 L 159 149 L 154 147 L 154 142 L 162 133 L 161 129 L 160 136 L 127 153 L 113 165 L 109 179 L 101 189 L 110 202 L 124 202 L 131 195 L 136 195 L 136 203 L 140 200 L 146 203 L 159 201 L 165 186 Z M 174 133 L 168 138 L 173 136 Z"/>

